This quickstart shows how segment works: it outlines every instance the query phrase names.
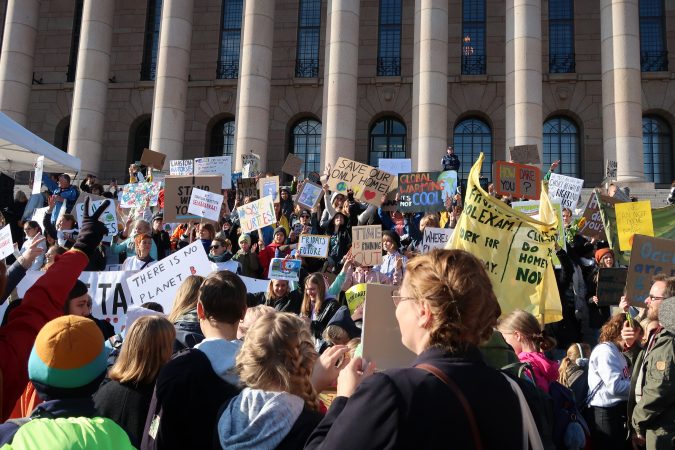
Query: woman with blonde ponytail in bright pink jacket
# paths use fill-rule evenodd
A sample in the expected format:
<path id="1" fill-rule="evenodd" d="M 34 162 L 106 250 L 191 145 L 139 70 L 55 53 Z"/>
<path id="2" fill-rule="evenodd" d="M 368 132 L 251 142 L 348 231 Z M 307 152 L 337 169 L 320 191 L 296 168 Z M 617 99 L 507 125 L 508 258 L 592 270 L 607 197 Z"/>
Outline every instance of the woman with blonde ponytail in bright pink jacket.
<path id="1" fill-rule="evenodd" d="M 548 392 L 549 383 L 558 381 L 558 363 L 548 359 L 543 352 L 555 348 L 555 339 L 546 335 L 537 319 L 522 309 L 504 317 L 498 328 L 518 359 L 532 366 L 537 387 Z"/>

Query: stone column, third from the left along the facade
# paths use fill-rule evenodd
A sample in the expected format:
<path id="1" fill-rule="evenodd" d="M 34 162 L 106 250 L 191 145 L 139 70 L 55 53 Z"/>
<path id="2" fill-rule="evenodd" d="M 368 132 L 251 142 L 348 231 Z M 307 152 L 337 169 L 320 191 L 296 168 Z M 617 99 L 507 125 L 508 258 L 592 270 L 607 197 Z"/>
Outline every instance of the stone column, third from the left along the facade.
<path id="1" fill-rule="evenodd" d="M 164 0 L 150 148 L 169 160 L 183 157 L 193 0 Z"/>

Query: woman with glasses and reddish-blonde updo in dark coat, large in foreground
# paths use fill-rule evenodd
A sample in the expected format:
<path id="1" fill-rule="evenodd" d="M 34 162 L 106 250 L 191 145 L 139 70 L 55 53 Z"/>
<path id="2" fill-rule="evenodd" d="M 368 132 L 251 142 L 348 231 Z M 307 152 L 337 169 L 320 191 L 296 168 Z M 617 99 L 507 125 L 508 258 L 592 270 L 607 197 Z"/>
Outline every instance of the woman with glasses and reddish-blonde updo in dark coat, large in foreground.
<path id="1" fill-rule="evenodd" d="M 518 397 L 478 349 L 501 314 L 484 264 L 462 250 L 413 258 L 392 307 L 417 359 L 373 374 L 377 361 L 353 358 L 305 448 L 522 449 Z"/>

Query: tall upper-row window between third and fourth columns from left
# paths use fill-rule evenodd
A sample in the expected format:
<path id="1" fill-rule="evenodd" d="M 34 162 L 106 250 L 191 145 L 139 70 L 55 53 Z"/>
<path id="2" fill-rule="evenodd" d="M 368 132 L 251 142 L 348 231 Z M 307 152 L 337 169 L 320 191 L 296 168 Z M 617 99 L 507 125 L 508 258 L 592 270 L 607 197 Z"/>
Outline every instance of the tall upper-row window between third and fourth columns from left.
<path id="1" fill-rule="evenodd" d="M 220 49 L 216 78 L 231 80 L 239 76 L 239 44 L 243 0 L 223 0 L 220 18 Z"/>

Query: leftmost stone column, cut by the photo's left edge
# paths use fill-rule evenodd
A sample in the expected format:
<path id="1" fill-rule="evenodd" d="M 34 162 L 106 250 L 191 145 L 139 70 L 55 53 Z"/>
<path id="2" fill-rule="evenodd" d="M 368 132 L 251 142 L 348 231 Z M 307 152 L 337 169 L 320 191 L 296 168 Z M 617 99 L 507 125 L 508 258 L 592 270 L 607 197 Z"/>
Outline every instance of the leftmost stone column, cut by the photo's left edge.
<path id="1" fill-rule="evenodd" d="M 7 0 L 0 56 L 0 111 L 24 127 L 33 84 L 39 0 Z"/>

